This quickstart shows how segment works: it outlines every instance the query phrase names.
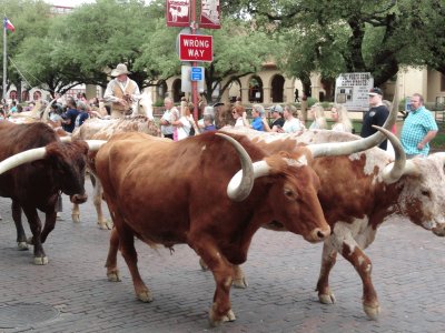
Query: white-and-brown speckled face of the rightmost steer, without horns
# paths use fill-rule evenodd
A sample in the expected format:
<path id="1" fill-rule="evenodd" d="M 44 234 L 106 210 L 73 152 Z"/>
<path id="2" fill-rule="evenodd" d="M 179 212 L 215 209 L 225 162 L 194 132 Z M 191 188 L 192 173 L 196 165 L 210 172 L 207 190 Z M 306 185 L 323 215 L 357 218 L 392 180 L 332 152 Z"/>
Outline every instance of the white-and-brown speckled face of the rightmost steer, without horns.
<path id="1" fill-rule="evenodd" d="M 445 153 L 408 160 L 398 200 L 400 213 L 412 222 L 445 235 Z"/>

